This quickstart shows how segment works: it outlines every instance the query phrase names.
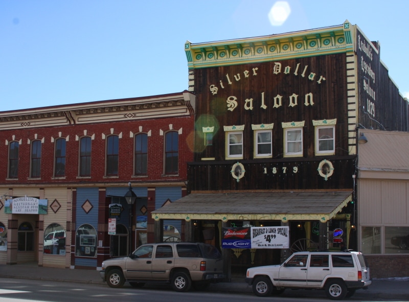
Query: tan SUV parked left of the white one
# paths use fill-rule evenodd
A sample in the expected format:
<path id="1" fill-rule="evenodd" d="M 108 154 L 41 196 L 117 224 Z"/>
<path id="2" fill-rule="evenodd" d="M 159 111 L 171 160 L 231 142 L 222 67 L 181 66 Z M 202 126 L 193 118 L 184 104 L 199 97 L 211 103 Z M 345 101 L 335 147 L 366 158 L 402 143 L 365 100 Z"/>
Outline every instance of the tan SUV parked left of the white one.
<path id="1" fill-rule="evenodd" d="M 170 282 L 179 292 L 191 286 L 206 289 L 211 282 L 225 278 L 216 247 L 188 242 L 141 245 L 129 257 L 105 260 L 100 274 L 110 287 L 122 287 L 125 282 L 142 287 L 146 282 L 159 281 Z"/>

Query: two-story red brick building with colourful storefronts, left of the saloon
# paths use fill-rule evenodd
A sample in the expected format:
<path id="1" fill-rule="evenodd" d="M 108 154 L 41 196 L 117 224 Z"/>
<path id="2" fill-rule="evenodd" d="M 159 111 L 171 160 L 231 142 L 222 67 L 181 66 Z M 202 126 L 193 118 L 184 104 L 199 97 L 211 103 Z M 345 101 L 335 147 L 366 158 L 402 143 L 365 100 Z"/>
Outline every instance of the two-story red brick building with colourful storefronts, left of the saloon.
<path id="1" fill-rule="evenodd" d="M 0 263 L 96 269 L 152 242 L 150 212 L 186 195 L 194 100 L 184 91 L 0 112 Z M 163 239 L 180 239 L 174 222 Z"/>

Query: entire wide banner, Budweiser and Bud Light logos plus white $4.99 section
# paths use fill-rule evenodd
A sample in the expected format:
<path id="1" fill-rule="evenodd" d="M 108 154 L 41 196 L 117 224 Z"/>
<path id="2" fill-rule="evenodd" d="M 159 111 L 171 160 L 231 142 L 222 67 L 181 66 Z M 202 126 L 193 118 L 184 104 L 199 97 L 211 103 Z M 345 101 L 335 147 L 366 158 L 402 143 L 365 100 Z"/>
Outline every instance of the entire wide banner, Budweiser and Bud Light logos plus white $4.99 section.
<path id="1" fill-rule="evenodd" d="M 289 248 L 288 226 L 223 227 L 222 248 Z"/>

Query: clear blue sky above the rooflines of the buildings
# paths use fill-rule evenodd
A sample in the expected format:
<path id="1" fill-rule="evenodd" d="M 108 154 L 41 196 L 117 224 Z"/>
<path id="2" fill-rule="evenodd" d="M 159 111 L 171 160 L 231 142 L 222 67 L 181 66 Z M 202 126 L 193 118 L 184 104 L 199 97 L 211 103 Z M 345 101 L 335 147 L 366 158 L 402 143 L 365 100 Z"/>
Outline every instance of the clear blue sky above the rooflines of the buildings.
<path id="1" fill-rule="evenodd" d="M 406 0 L 0 0 L 0 111 L 144 97 L 188 89 L 192 43 L 340 25 L 372 41 L 409 97 Z"/>

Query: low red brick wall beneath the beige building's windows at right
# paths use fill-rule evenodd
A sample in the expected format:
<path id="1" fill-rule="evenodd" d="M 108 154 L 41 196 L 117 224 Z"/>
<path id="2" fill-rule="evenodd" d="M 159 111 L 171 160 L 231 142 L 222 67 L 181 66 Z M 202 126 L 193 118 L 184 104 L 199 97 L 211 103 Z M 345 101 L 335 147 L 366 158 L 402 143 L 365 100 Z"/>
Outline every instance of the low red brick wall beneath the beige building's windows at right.
<path id="1" fill-rule="evenodd" d="M 405 255 L 365 255 L 371 278 L 409 276 L 409 254 Z"/>

